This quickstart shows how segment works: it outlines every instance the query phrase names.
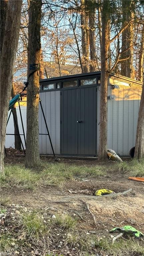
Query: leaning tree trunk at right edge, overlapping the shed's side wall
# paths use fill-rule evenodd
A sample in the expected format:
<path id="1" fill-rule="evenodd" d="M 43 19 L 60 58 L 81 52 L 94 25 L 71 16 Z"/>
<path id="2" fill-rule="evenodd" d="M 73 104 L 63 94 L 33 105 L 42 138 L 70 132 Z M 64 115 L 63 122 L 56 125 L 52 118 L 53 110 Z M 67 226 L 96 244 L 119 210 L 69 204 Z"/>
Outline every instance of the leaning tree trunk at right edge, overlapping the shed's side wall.
<path id="1" fill-rule="evenodd" d="M 139 107 L 134 157 L 137 159 L 144 158 L 144 78 Z"/>

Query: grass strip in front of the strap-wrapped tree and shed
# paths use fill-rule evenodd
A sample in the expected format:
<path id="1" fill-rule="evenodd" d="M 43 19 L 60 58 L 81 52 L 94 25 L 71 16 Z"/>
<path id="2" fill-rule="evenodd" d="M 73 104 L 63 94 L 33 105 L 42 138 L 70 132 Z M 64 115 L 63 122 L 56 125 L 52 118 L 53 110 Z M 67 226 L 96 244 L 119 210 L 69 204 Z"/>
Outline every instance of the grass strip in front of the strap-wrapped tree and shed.
<path id="1" fill-rule="evenodd" d="M 101 166 L 87 167 L 64 163 L 42 163 L 43 170 L 26 169 L 22 165 L 7 165 L 5 175 L 1 175 L 1 187 L 16 187 L 34 191 L 40 185 L 62 187 L 75 177 L 100 177 L 105 174 Z"/>

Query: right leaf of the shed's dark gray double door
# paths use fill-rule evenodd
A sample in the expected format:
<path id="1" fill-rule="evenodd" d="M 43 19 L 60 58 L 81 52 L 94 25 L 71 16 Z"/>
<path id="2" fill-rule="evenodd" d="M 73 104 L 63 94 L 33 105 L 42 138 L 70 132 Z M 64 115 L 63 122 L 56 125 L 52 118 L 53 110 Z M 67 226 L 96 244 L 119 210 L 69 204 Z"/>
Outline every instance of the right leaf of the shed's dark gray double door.
<path id="1" fill-rule="evenodd" d="M 96 154 L 96 87 L 79 89 L 78 155 Z"/>

